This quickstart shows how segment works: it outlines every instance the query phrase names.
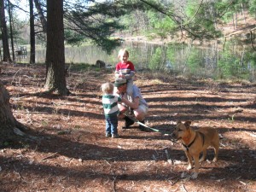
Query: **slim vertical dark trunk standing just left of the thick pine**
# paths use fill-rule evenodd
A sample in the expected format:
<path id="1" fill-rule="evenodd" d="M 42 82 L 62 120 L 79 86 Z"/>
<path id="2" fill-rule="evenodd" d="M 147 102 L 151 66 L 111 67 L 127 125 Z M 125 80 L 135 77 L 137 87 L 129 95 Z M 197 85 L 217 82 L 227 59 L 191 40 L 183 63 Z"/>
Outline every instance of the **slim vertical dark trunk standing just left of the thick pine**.
<path id="1" fill-rule="evenodd" d="M 35 22 L 33 11 L 33 0 L 29 0 L 29 14 L 30 14 L 30 64 L 36 62 L 36 39 L 35 39 Z"/>

